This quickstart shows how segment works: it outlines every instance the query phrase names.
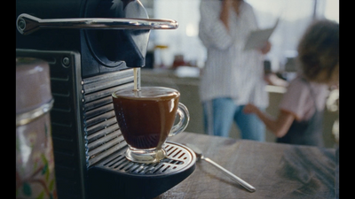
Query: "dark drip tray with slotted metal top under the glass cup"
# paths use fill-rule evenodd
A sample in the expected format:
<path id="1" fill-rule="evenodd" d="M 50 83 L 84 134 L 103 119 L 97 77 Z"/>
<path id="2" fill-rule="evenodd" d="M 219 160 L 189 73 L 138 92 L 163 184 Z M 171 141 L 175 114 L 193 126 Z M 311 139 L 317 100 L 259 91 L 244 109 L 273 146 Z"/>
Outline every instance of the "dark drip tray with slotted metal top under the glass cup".
<path id="1" fill-rule="evenodd" d="M 185 180 L 195 169 L 193 150 L 176 142 L 166 142 L 163 147 L 167 157 L 159 163 L 131 162 L 123 148 L 94 165 L 88 172 L 90 196 L 154 198 Z"/>

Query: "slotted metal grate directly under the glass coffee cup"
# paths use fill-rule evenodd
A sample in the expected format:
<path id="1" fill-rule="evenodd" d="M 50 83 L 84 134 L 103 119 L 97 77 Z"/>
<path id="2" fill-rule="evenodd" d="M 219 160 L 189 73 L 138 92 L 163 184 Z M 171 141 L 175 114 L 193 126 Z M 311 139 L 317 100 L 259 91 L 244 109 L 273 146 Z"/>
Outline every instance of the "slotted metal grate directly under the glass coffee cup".
<path id="1" fill-rule="evenodd" d="M 95 167 L 109 169 L 122 174 L 153 177 L 183 172 L 195 165 L 196 156 L 193 150 L 187 148 L 185 145 L 176 142 L 165 142 L 163 148 L 167 151 L 167 157 L 159 163 L 144 164 L 131 162 L 124 156 L 127 149 L 124 148 L 107 157 L 99 165 L 95 165 Z"/>

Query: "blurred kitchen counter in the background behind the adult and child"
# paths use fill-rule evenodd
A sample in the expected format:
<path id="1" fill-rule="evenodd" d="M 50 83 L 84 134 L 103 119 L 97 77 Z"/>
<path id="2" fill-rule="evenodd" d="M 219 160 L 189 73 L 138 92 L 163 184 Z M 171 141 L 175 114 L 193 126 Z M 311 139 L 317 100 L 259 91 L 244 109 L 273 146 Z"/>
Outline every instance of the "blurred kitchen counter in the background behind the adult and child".
<path id="1" fill-rule="evenodd" d="M 177 70 L 168 69 L 141 69 L 141 85 L 176 88 L 180 93 L 180 102 L 184 103 L 190 111 L 190 123 L 186 132 L 203 134 L 203 110 L 199 96 L 200 71 L 195 67 L 180 66 Z M 269 107 L 266 108 L 272 117 L 279 114 L 279 103 L 287 88 L 267 85 L 269 94 Z M 332 134 L 335 119 L 339 117 L 339 111 L 325 111 L 324 113 L 324 140 L 326 147 L 335 146 L 335 138 Z M 229 134 L 232 138 L 240 138 L 238 127 L 233 124 Z M 276 137 L 266 130 L 266 142 L 274 142 Z"/>

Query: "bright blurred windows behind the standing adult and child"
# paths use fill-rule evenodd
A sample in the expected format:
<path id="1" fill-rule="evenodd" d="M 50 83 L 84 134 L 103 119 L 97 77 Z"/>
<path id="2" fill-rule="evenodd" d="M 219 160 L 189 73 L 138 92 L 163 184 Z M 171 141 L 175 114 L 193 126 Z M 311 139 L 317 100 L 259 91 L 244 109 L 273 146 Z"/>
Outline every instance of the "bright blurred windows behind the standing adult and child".
<path id="1" fill-rule="evenodd" d="M 288 57 L 296 56 L 296 44 L 312 19 L 327 18 L 339 22 L 338 0 L 245 1 L 254 7 L 260 28 L 272 27 L 280 18 L 279 25 L 270 38 L 272 50 L 267 56 L 272 61 L 273 72 L 283 70 Z M 179 27 L 174 31 L 151 32 L 149 50 L 154 53 L 154 62 L 146 66 L 171 68 L 175 57 L 177 59 L 183 57 L 185 64 L 202 68 L 206 59 L 206 49 L 198 38 L 201 0 L 141 0 L 141 2 L 150 18 L 175 19 L 179 23 Z"/>

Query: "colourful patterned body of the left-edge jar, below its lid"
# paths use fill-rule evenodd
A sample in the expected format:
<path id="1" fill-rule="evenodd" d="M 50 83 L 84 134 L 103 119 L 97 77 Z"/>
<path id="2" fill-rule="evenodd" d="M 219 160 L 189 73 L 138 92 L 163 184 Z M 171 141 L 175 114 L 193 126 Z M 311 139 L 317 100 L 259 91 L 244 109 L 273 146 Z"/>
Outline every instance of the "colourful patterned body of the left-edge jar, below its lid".
<path id="1" fill-rule="evenodd" d="M 49 114 L 16 127 L 16 198 L 58 198 Z"/>

